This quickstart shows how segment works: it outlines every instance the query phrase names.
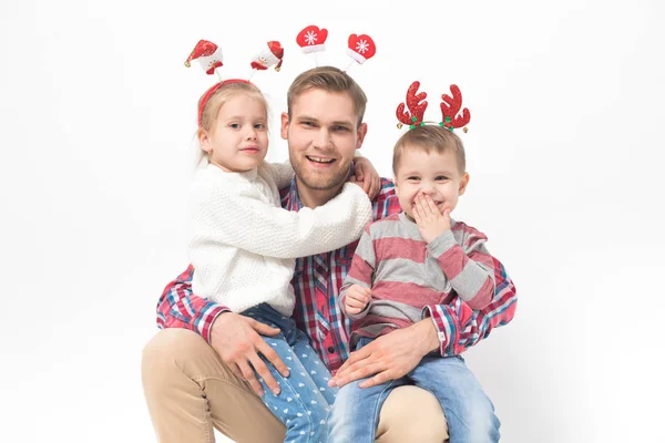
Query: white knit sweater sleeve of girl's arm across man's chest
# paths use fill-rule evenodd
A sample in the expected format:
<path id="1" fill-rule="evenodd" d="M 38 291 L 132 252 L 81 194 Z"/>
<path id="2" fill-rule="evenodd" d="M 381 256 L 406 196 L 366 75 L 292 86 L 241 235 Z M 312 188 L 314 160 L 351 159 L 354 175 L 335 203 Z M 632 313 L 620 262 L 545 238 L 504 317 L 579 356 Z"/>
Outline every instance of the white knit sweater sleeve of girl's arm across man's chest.
<path id="1" fill-rule="evenodd" d="M 215 186 L 193 205 L 193 243 L 224 245 L 275 258 L 298 258 L 338 249 L 358 239 L 371 218 L 371 203 L 351 183 L 324 206 L 290 212 L 270 206 L 254 186 Z"/>

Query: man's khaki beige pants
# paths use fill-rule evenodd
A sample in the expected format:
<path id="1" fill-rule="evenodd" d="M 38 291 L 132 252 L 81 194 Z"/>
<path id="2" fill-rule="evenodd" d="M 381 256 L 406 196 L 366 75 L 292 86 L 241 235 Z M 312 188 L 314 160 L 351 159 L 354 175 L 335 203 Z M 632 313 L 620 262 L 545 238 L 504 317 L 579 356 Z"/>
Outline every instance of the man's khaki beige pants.
<path id="1" fill-rule="evenodd" d="M 214 442 L 213 426 L 237 443 L 284 441 L 284 424 L 195 332 L 157 332 L 143 350 L 142 377 L 160 442 Z M 443 411 L 429 392 L 401 387 L 383 403 L 377 443 L 442 443 L 447 439 Z"/>

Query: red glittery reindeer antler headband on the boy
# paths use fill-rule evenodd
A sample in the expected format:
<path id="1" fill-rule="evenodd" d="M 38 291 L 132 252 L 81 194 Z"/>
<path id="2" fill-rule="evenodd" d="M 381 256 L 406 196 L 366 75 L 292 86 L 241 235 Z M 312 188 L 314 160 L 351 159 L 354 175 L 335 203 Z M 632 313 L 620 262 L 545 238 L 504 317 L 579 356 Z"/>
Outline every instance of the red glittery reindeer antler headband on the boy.
<path id="1" fill-rule="evenodd" d="M 418 93 L 418 89 L 420 87 L 420 82 L 416 81 L 411 83 L 409 90 L 407 91 L 407 100 L 406 107 L 409 111 L 405 111 L 405 103 L 400 103 L 397 106 L 397 120 L 400 123 L 397 124 L 397 127 L 401 128 L 402 124 L 409 125 L 409 128 L 415 128 L 417 126 L 424 126 L 426 123 L 437 123 L 437 122 L 426 122 L 424 111 L 427 110 L 427 93 L 420 92 Z M 454 128 L 463 127 L 469 124 L 471 120 L 471 113 L 467 107 L 461 110 L 462 107 L 462 93 L 457 84 L 450 85 L 450 92 L 452 94 L 442 94 L 441 95 L 441 121 L 438 122 L 439 126 L 447 127 L 450 131 Z M 461 114 L 458 114 L 461 110 Z M 467 127 L 463 130 L 467 132 Z"/>

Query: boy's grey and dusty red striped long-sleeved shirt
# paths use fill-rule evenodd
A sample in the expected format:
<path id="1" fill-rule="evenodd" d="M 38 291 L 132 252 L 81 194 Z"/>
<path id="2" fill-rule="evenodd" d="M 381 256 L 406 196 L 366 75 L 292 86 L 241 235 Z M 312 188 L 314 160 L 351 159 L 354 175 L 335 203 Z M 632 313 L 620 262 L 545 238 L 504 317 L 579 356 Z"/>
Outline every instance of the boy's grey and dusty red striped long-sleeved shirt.
<path id="1" fill-rule="evenodd" d="M 341 288 L 340 307 L 351 285 L 371 289 L 371 300 L 355 321 L 351 348 L 359 337 L 376 338 L 422 319 L 428 306 L 450 305 L 456 297 L 473 310 L 494 298 L 494 258 L 487 236 L 451 220 L 429 245 L 405 213 L 365 228 Z"/>

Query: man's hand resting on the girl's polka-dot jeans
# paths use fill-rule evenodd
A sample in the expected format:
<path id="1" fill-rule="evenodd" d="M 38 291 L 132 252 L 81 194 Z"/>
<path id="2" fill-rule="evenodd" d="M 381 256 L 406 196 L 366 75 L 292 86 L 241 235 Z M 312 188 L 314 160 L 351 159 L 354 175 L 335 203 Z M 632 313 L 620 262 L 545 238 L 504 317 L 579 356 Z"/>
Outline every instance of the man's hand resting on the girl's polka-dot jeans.
<path id="1" fill-rule="evenodd" d="M 234 312 L 223 312 L 215 319 L 211 329 L 211 346 L 233 373 L 242 380 L 247 380 L 258 395 L 263 395 L 264 390 L 256 379 L 256 373 L 264 379 L 270 391 L 277 395 L 279 384 L 277 384 L 266 363 L 258 356 L 259 352 L 284 377 L 288 377 L 288 369 L 277 356 L 277 352 L 265 342 L 259 333 L 276 336 L 279 333 L 279 329 L 270 328 L 252 318 Z"/>

